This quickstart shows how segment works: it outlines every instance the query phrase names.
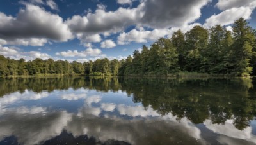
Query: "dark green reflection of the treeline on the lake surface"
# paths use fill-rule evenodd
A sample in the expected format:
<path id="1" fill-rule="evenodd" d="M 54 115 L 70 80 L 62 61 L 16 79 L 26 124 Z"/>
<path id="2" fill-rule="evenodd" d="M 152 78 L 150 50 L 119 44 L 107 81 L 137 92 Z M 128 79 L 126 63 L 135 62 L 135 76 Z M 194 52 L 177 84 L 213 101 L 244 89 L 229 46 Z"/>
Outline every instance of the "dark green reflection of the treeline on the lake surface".
<path id="1" fill-rule="evenodd" d="M 141 102 L 162 116 L 172 113 L 198 124 L 211 120 L 223 124 L 234 120 L 243 130 L 256 114 L 253 78 L 124 78 L 124 77 L 29 77 L 0 78 L 0 96 L 7 93 L 39 93 L 47 90 L 86 88 L 99 92 L 126 92 L 133 102 Z"/>

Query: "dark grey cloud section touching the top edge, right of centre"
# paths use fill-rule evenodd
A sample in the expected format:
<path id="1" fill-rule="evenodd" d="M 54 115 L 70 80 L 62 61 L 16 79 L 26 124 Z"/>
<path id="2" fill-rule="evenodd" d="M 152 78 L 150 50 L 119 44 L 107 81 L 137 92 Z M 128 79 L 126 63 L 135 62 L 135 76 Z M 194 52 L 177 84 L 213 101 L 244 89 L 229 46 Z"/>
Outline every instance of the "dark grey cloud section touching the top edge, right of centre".
<path id="1" fill-rule="evenodd" d="M 153 28 L 180 27 L 194 22 L 211 0 L 148 0 L 143 3 L 141 24 Z"/>

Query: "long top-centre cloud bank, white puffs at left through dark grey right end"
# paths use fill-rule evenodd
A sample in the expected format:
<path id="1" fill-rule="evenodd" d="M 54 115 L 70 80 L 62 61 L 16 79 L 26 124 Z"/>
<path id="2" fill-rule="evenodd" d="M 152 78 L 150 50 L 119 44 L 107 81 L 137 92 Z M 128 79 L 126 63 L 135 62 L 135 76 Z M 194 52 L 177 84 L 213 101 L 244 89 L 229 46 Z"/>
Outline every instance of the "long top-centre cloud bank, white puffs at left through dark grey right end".
<path id="1" fill-rule="evenodd" d="M 116 33 L 124 31 L 129 25 L 158 29 L 180 27 L 199 18 L 200 8 L 209 1 L 211 0 L 182 0 L 177 3 L 169 0 L 148 0 L 141 2 L 136 8 L 118 8 L 116 11 L 98 8 L 95 13 L 88 13 L 85 16 L 74 15 L 66 20 L 66 24 L 73 32 L 92 34 Z"/>

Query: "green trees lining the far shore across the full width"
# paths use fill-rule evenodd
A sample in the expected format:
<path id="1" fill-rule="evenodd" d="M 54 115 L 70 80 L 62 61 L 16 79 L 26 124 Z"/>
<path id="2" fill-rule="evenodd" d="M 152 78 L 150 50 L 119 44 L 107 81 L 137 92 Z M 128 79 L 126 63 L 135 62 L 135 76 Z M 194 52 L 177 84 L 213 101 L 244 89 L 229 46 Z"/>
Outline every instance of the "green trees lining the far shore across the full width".
<path id="1" fill-rule="evenodd" d="M 168 75 L 199 72 L 230 76 L 256 74 L 256 31 L 244 18 L 232 25 L 232 32 L 221 25 L 211 29 L 195 26 L 185 34 L 178 30 L 172 38 L 159 38 L 150 48 L 143 45 L 126 60 L 35 59 L 26 62 L 0 55 L 0 76 L 15 75 Z"/>

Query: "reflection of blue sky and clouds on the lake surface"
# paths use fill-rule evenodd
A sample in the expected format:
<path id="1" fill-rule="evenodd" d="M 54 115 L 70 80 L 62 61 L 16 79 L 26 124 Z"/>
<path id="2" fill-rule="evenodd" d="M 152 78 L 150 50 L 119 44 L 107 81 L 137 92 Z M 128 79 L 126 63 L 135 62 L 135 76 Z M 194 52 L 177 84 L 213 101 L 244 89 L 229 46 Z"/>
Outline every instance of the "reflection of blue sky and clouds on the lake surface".
<path id="1" fill-rule="evenodd" d="M 35 93 L 26 90 L 0 98 L 0 141 L 14 135 L 22 144 L 40 144 L 63 130 L 74 137 L 88 135 L 99 141 L 115 139 L 132 144 L 194 142 L 207 144 L 204 130 L 218 134 L 216 142 L 229 144 L 242 139 L 256 143 L 255 123 L 242 131 L 228 120 L 225 125 L 204 122 L 204 129 L 171 113 L 161 116 L 152 107 L 134 104 L 125 92 L 86 89 Z M 211 142 L 211 141 L 210 141 Z M 245 142 L 245 141 L 242 141 Z M 248 143 L 248 142 L 247 142 Z"/>

